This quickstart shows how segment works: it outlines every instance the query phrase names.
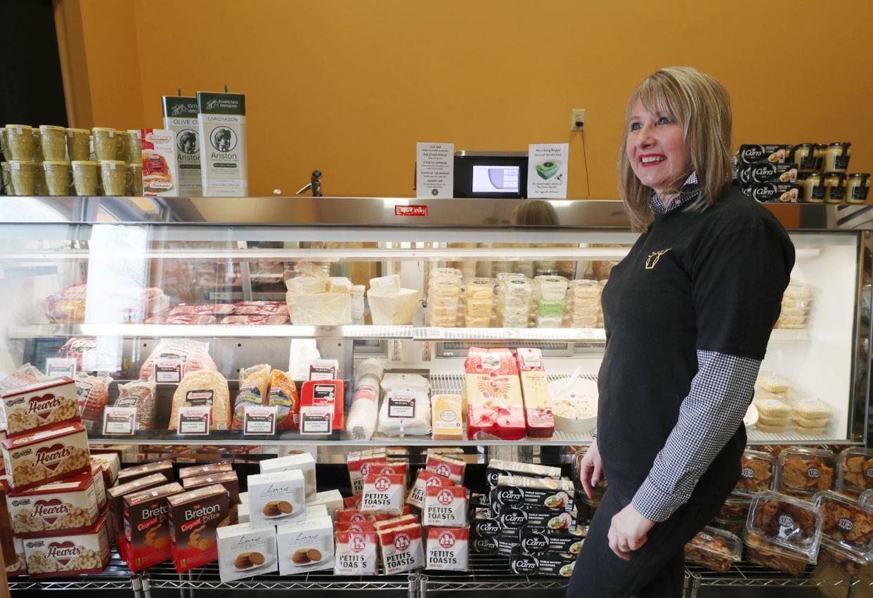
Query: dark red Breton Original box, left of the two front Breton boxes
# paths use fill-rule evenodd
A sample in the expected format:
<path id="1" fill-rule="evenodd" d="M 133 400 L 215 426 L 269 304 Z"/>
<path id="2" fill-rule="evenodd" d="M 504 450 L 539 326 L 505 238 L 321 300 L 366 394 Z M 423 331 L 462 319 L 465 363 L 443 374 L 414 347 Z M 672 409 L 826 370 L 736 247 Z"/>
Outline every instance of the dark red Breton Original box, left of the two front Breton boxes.
<path id="1" fill-rule="evenodd" d="M 182 492 L 173 482 L 124 497 L 124 539 L 127 566 L 141 571 L 171 556 L 167 498 Z"/>

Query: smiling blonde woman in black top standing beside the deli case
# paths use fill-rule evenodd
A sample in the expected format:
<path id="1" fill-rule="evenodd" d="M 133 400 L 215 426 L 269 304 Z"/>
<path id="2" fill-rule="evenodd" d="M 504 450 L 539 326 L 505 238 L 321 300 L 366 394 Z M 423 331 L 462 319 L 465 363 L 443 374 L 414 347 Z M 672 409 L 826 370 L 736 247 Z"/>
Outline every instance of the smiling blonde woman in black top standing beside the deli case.
<path id="1" fill-rule="evenodd" d="M 643 233 L 603 290 L 597 435 L 581 482 L 608 477 L 567 595 L 680 596 L 685 542 L 739 479 L 742 418 L 794 247 L 732 184 L 716 79 L 662 69 L 631 96 L 620 191 Z"/>

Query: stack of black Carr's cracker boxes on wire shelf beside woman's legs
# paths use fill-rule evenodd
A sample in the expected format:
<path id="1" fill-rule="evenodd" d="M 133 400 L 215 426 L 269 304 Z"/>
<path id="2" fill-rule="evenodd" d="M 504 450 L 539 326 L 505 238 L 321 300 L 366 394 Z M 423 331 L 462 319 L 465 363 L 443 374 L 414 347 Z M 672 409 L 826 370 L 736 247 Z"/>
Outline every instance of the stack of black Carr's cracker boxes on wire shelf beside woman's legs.
<path id="1" fill-rule="evenodd" d="M 516 574 L 573 574 L 583 529 L 560 468 L 494 459 L 485 477 L 491 490 L 471 500 L 472 550 L 509 557 Z"/>

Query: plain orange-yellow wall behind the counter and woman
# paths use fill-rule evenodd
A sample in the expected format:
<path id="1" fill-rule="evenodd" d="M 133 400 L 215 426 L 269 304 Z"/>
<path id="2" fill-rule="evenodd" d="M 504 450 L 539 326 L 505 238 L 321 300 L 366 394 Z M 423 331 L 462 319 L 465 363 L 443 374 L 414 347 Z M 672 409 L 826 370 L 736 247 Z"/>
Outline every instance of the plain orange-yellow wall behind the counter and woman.
<path id="1" fill-rule="evenodd" d="M 409 196 L 416 141 L 453 141 L 569 142 L 584 198 L 579 107 L 590 197 L 615 198 L 625 103 L 663 65 L 725 84 L 735 145 L 852 141 L 849 169 L 873 170 L 866 0 L 829 16 L 812 0 L 56 1 L 81 13 L 62 32 L 84 37 L 77 126 L 160 127 L 162 95 L 226 83 L 246 94 L 253 196 L 292 195 L 314 168 L 326 195 Z"/>

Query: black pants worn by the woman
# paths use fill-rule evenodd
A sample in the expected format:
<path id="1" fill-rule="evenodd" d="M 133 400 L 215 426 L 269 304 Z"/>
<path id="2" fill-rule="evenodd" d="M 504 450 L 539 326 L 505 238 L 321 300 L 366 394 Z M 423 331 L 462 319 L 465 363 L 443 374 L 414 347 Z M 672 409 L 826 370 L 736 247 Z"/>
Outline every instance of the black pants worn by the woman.
<path id="1" fill-rule="evenodd" d="M 613 515 L 632 496 L 609 486 L 588 529 L 567 598 L 681 598 L 684 546 L 708 525 L 720 505 L 683 505 L 670 519 L 656 523 L 649 540 L 623 560 L 609 549 L 607 534 Z"/>

